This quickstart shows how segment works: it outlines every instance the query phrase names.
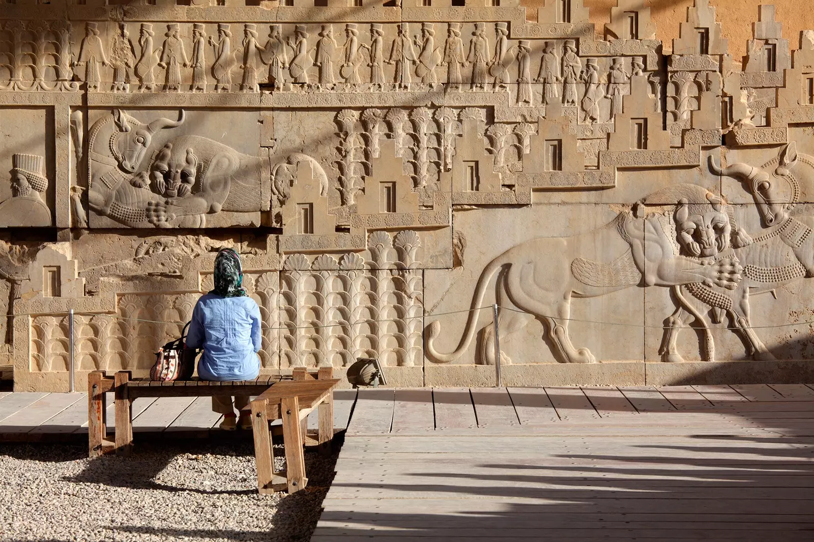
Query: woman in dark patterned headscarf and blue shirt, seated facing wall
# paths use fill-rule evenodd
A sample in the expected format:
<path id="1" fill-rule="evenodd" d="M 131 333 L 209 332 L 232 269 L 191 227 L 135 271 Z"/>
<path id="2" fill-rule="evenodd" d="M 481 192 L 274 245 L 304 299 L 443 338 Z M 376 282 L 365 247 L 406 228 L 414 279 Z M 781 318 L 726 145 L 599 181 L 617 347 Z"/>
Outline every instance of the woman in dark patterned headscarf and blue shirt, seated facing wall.
<path id="1" fill-rule="evenodd" d="M 198 376 L 204 380 L 253 380 L 260 374 L 260 308 L 243 290 L 240 256 L 231 248 L 218 251 L 215 258 L 215 289 L 202 295 L 192 310 L 186 346 L 204 348 L 198 362 Z M 248 396 L 235 396 L 234 409 L 240 412 Z M 212 410 L 223 414 L 221 429 L 252 428 L 251 414 L 239 422 L 230 396 L 213 396 Z"/>

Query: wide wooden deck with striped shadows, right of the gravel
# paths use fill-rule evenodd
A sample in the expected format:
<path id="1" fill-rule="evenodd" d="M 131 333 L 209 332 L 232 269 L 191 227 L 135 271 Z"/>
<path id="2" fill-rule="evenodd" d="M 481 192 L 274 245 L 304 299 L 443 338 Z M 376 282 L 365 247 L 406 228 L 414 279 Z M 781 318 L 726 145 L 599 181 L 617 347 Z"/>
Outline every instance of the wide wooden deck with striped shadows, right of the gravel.
<path id="1" fill-rule="evenodd" d="M 814 387 L 363 389 L 312 542 L 814 540 Z"/>

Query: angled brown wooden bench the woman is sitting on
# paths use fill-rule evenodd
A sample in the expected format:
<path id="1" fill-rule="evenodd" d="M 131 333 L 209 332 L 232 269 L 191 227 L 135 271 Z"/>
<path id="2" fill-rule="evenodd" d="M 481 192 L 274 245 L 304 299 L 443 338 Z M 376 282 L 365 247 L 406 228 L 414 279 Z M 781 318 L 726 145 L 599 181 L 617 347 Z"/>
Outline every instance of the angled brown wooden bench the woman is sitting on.
<path id="1" fill-rule="evenodd" d="M 258 462 L 258 489 L 260 492 L 274 492 L 278 489 L 299 491 L 307 483 L 304 476 L 303 444 L 305 424 L 309 413 L 319 407 L 319 432 L 317 441 L 323 448 L 333 439 L 333 388 L 339 380 L 331 378 L 333 369 L 319 369 L 313 378 L 305 368 L 296 368 L 291 377 L 260 376 L 254 380 L 232 382 L 210 382 L 188 380 L 174 382 L 152 382 L 147 378 L 133 380 L 129 371 L 118 371 L 107 376 L 104 371 L 93 371 L 88 375 L 88 448 L 90 457 L 98 457 L 107 452 L 127 453 L 133 445 L 133 400 L 138 397 L 200 397 L 200 396 L 258 396 L 267 408 L 263 414 L 255 413 L 252 405 L 252 430 L 256 457 L 271 457 L 271 440 L 268 422 L 282 419 L 283 442 L 289 465 L 287 479 L 280 473 L 264 476 L 260 485 L 260 470 L 265 462 Z M 116 436 L 107 440 L 105 394 L 113 391 L 116 401 Z M 266 423 L 261 423 L 265 420 Z M 296 426 L 292 429 L 291 424 Z M 272 463 L 273 464 L 273 463 Z M 265 470 L 263 471 L 265 473 Z M 268 478 L 268 479 L 267 479 Z"/>

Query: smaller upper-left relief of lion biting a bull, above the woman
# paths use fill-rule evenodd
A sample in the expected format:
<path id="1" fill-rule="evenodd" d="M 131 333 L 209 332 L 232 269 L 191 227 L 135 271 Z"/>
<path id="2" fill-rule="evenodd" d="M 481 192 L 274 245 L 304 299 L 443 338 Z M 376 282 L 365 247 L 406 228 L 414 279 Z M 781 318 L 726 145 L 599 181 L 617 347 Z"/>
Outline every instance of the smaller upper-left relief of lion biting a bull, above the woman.
<path id="1" fill-rule="evenodd" d="M 299 153 L 269 160 L 199 135 L 154 141 L 161 130 L 176 129 L 184 122 L 183 110 L 178 120 L 160 118 L 149 124 L 116 110 L 91 126 L 88 203 L 92 212 L 104 217 L 96 221 L 98 225 L 112 225 L 110 221 L 131 228 L 259 225 L 260 212 L 271 207 L 272 176 L 278 169 L 308 160 L 321 183 L 327 184 L 317 160 Z"/>

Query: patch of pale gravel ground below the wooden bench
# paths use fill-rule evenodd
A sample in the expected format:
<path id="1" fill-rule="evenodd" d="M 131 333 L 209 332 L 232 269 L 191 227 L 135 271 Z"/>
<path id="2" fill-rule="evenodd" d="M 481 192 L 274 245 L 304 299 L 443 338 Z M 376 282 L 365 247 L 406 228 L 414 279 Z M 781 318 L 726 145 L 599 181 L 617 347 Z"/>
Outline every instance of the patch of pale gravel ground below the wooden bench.
<path id="1" fill-rule="evenodd" d="M 3 444 L 0 540 L 309 540 L 335 462 L 306 453 L 304 491 L 261 496 L 250 442 L 137 443 L 94 460 L 86 447 Z"/>

